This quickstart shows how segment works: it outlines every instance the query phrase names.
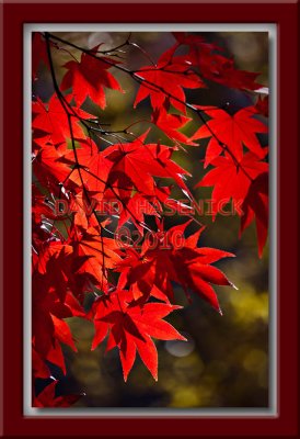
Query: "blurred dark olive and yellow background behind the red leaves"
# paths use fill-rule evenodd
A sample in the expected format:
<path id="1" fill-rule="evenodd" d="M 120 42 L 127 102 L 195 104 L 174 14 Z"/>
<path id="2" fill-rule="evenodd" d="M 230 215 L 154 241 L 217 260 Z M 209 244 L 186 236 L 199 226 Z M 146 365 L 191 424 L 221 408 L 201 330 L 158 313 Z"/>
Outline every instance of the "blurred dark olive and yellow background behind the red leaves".
<path id="1" fill-rule="evenodd" d="M 60 37 L 93 47 L 105 43 L 101 49 L 108 49 L 124 41 L 127 33 L 59 33 Z M 268 35 L 263 32 L 222 32 L 203 33 L 207 41 L 215 42 L 233 55 L 240 69 L 262 72 L 259 82 L 268 85 Z M 170 33 L 132 33 L 130 40 L 138 43 L 153 59 L 174 44 Z M 124 63 L 130 68 L 148 65 L 149 61 L 140 50 L 126 47 Z M 65 74 L 61 67 L 70 55 L 53 50 L 58 78 Z M 72 54 L 80 57 L 77 50 Z M 135 121 L 150 119 L 149 101 L 143 101 L 136 110 L 132 103 L 137 85 L 131 78 L 112 69 L 125 94 L 106 90 L 107 109 L 101 111 L 91 101 L 84 109 L 109 123 L 111 130 L 123 130 Z M 45 68 L 39 69 L 39 79 L 35 81 L 33 92 L 43 100 L 51 93 L 51 80 Z M 207 89 L 186 91 L 187 102 L 203 105 L 222 106 L 229 102 L 229 111 L 251 105 L 253 93 L 240 92 L 226 87 L 209 83 Z M 138 123 L 131 130 L 143 133 L 150 125 Z M 192 134 L 199 123 L 191 123 L 184 132 Z M 153 128 L 148 140 L 158 137 L 164 144 L 170 140 L 160 131 Z M 262 137 L 262 142 L 266 139 Z M 206 140 L 201 143 L 206 145 Z M 188 185 L 193 189 L 203 175 L 200 159 L 205 147 L 187 147 L 188 154 L 177 151 L 176 161 L 187 169 L 193 178 Z M 211 189 L 194 190 L 197 200 L 207 199 Z M 183 198 L 178 191 L 174 196 Z M 159 351 L 159 381 L 155 383 L 140 359 L 129 374 L 127 383 L 123 373 L 116 349 L 104 354 L 104 347 L 91 352 L 93 325 L 79 318 L 69 320 L 77 339 L 78 353 L 65 349 L 67 356 L 67 376 L 59 371 L 56 376 L 62 380 L 64 392 L 84 392 L 76 405 L 82 407 L 267 407 L 268 406 L 268 249 L 263 258 L 257 256 L 256 232 L 254 224 L 239 239 L 240 219 L 218 215 L 215 223 L 209 216 L 197 217 L 208 227 L 200 238 L 200 246 L 211 246 L 232 251 L 235 259 L 217 262 L 228 278 L 239 288 L 216 288 L 223 316 L 217 314 L 199 297 L 193 295 L 188 304 L 184 292 L 176 288 L 176 299 L 185 305 L 173 313 L 168 322 L 173 324 L 188 338 L 187 342 L 157 342 Z M 166 218 L 166 228 L 186 221 L 181 217 Z M 195 223 L 189 233 L 198 228 Z"/>

